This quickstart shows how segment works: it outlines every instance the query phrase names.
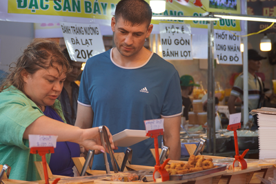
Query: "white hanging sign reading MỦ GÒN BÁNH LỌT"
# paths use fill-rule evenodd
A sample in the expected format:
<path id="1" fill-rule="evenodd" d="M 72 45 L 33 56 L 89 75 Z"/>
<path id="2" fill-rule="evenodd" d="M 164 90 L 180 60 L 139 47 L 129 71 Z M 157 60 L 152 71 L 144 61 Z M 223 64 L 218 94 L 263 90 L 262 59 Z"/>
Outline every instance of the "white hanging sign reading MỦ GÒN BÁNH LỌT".
<path id="1" fill-rule="evenodd" d="M 159 23 L 159 29 L 163 59 L 193 59 L 190 25 Z"/>

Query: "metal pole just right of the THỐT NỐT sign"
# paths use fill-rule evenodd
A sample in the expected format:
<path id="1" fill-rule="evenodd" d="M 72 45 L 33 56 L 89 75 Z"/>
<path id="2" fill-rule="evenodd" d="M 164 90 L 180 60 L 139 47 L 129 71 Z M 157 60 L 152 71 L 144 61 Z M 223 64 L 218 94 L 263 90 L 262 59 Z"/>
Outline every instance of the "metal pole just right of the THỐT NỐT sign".
<path id="1" fill-rule="evenodd" d="M 244 1 L 244 14 L 247 14 L 247 1 Z M 244 21 L 244 33 L 247 34 L 247 21 Z M 244 127 L 248 122 L 248 47 L 247 47 L 247 37 L 243 38 L 244 42 Z"/>

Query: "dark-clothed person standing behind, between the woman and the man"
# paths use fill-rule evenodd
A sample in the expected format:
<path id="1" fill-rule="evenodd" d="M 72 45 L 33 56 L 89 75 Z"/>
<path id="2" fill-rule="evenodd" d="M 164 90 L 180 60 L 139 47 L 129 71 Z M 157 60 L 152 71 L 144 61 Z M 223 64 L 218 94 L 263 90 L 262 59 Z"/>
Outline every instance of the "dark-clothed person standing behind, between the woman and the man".
<path id="1" fill-rule="evenodd" d="M 66 123 L 75 125 L 77 118 L 77 99 L 79 97 L 79 85 L 75 83 L 79 74 L 81 74 L 81 65 L 83 62 L 76 62 L 70 59 L 67 48 L 62 53 L 69 61 L 72 70 L 66 75 L 63 88 L 60 94 L 61 108 L 66 119 Z"/>

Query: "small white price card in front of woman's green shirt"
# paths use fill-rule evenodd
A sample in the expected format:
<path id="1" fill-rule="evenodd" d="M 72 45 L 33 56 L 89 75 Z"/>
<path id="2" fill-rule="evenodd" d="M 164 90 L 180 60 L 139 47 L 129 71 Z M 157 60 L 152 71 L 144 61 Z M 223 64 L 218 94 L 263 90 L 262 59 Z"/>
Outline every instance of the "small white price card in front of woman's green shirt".
<path id="1" fill-rule="evenodd" d="M 56 147 L 57 137 L 53 135 L 29 135 L 29 147 Z"/>

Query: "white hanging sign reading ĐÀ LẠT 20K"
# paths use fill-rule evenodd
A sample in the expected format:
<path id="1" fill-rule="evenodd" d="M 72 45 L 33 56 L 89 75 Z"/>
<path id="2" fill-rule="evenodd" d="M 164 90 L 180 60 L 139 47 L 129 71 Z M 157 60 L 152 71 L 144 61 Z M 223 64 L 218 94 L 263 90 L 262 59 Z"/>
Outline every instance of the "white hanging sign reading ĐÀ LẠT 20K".
<path id="1" fill-rule="evenodd" d="M 60 22 L 60 25 L 72 61 L 86 62 L 105 51 L 98 24 Z"/>

